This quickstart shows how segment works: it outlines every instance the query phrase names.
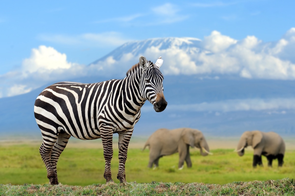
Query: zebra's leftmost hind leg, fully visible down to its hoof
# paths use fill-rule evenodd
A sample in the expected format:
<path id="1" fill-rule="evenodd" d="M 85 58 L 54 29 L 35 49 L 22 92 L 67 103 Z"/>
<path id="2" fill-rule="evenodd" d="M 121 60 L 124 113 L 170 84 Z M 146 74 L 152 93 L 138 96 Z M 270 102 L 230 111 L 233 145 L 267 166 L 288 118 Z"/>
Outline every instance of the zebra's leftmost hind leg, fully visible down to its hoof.
<path id="1" fill-rule="evenodd" d="M 42 131 L 43 132 L 43 131 Z M 57 140 L 56 138 L 52 136 L 45 136 L 43 135 L 43 143 L 40 146 L 40 155 L 41 158 L 46 166 L 47 170 L 47 178 L 49 179 L 49 184 L 50 185 L 57 185 L 58 184 L 58 179 L 57 179 L 57 174 L 55 173 L 55 170 L 51 164 L 51 152 L 53 149 L 53 146 Z"/>

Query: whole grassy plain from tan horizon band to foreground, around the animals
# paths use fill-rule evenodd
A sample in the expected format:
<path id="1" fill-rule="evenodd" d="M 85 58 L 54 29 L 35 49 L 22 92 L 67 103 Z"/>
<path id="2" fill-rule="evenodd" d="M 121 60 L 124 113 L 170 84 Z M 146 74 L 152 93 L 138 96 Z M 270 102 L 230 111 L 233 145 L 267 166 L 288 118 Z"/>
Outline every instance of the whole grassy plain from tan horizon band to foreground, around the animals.
<path id="1" fill-rule="evenodd" d="M 100 139 L 92 141 L 70 139 L 58 161 L 58 180 L 61 184 L 55 187 L 48 185 L 45 165 L 39 154 L 41 140 L 0 140 L 0 195 L 13 195 L 12 192 L 22 191 L 27 195 L 30 195 L 30 192 L 33 195 L 97 195 L 98 193 L 101 195 L 121 193 L 123 195 L 247 195 L 248 193 L 260 195 L 251 192 L 251 189 L 262 193 L 264 191 L 266 195 L 295 195 L 294 138 L 284 138 L 286 153 L 283 167 L 280 168 L 277 160 L 273 161 L 273 167 L 267 167 L 266 157 L 262 157 L 264 167 L 253 168 L 253 149 L 250 146 L 243 157 L 234 152 L 239 138 L 207 137 L 213 155 L 203 157 L 198 149 L 191 148 L 192 167 L 187 168 L 184 165 L 182 170 L 177 168 L 178 154 L 161 158 L 158 168 L 148 168 L 149 150 L 147 148 L 142 151 L 146 139 L 132 137 L 130 141 L 126 161 L 128 183 L 123 183 L 124 185 L 122 183 L 120 185 L 117 180 L 119 161 L 116 137 L 114 137 L 114 155 L 111 164 L 112 178 L 118 184 L 105 184 L 104 157 Z M 255 183 L 266 187 L 269 192 L 259 186 L 255 188 Z M 278 185 L 274 187 L 275 184 Z M 245 188 L 248 193 L 239 192 L 235 189 L 237 186 L 240 188 L 250 186 L 250 188 Z M 80 187 L 81 191 L 71 192 L 73 187 Z M 210 190 L 217 191 L 218 187 L 222 190 L 215 192 L 216 194 L 210 192 Z M 94 191 L 96 188 L 99 189 L 98 193 Z M 273 192 L 272 188 L 277 192 Z M 40 189 L 47 192 L 37 194 Z M 184 192 L 179 192 L 181 189 L 184 189 Z M 51 192 L 48 192 L 49 190 Z M 149 192 L 151 190 L 154 192 Z"/>

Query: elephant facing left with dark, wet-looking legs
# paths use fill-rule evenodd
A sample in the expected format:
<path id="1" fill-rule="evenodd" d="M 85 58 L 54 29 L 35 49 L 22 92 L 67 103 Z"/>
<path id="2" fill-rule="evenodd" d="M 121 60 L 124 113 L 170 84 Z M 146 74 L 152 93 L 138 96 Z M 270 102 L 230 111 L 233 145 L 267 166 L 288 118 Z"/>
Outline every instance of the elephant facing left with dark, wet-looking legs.
<path id="1" fill-rule="evenodd" d="M 262 131 L 245 131 L 237 145 L 238 155 L 243 156 L 245 148 L 252 146 L 254 149 L 253 167 L 257 164 L 263 166 L 261 155 L 266 156 L 268 166 L 272 167 L 273 159 L 278 159 L 278 166 L 283 166 L 283 158 L 285 154 L 285 142 L 275 132 L 262 132 Z"/>

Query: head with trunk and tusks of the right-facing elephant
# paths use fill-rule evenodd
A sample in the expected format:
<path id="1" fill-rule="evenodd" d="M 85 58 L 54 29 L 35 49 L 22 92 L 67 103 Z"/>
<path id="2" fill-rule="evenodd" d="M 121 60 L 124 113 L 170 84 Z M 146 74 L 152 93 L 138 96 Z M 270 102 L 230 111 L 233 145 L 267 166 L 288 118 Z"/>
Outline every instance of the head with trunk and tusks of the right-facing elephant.
<path id="1" fill-rule="evenodd" d="M 182 139 L 184 143 L 190 145 L 192 148 L 199 148 L 201 155 L 207 156 L 208 154 L 212 154 L 209 152 L 209 146 L 201 131 L 196 129 L 184 129 L 182 132 Z"/>

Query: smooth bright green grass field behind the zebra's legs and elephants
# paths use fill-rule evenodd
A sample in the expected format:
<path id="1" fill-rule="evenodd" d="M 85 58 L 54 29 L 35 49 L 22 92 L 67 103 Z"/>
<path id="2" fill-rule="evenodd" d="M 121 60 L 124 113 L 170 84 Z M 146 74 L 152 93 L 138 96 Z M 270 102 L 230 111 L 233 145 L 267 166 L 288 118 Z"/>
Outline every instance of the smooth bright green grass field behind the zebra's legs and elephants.
<path id="1" fill-rule="evenodd" d="M 160 159 L 159 168 L 150 169 L 149 151 L 129 149 L 126 162 L 127 182 L 150 183 L 209 183 L 227 184 L 230 182 L 254 180 L 266 181 L 295 177 L 295 150 L 286 151 L 284 165 L 278 168 L 277 160 L 273 167 L 252 168 L 253 151 L 248 150 L 239 157 L 234 149 L 216 149 L 211 156 L 202 157 L 199 151 L 191 149 L 192 168 L 186 165 L 178 170 L 178 154 Z M 112 178 L 117 180 L 118 149 L 114 146 L 112 159 Z M 105 184 L 103 177 L 103 149 L 66 148 L 58 161 L 59 182 L 66 185 L 87 186 Z M 48 184 L 45 165 L 39 154 L 39 145 L 2 145 L 0 146 L 0 184 L 24 185 Z"/>

